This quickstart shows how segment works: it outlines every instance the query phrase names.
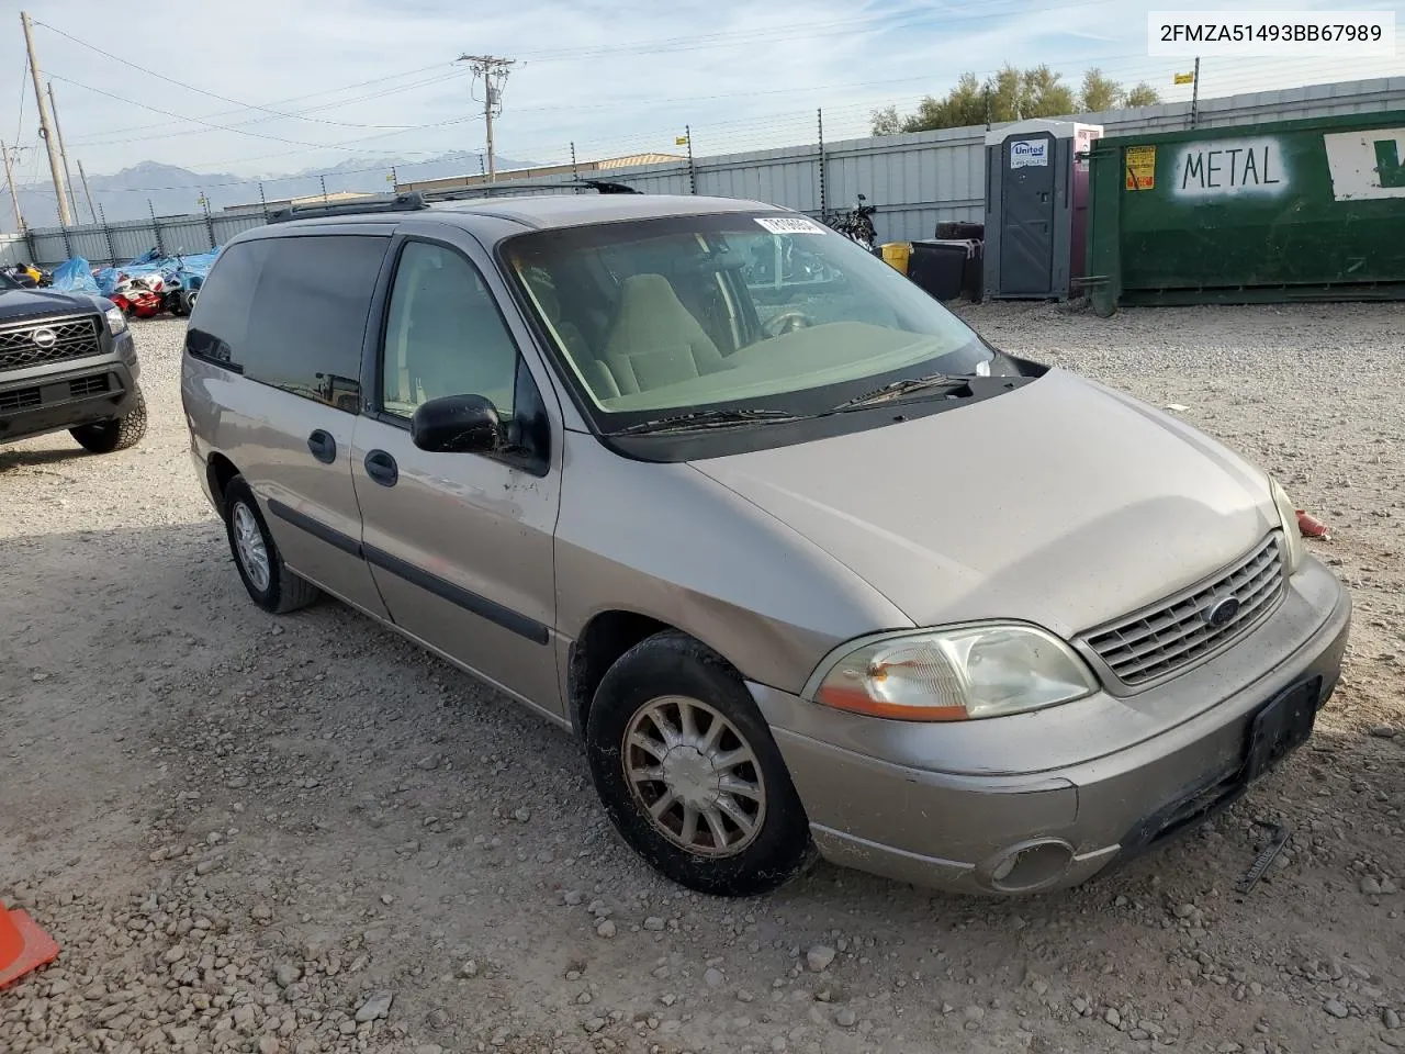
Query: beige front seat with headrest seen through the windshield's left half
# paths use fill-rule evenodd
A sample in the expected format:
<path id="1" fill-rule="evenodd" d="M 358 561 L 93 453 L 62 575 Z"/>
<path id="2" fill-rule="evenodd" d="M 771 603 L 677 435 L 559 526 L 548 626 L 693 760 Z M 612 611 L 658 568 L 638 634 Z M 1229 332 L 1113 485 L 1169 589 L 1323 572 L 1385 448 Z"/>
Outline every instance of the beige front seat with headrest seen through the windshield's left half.
<path id="1" fill-rule="evenodd" d="M 620 311 L 600 361 L 621 395 L 729 368 L 662 274 L 635 274 L 624 280 Z"/>

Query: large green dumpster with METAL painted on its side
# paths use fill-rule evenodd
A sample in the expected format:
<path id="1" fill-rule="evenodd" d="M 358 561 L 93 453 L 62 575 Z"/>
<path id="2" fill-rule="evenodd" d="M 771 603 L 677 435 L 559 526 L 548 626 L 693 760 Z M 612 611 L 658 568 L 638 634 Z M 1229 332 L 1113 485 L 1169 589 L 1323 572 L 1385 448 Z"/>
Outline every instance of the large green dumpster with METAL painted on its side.
<path id="1" fill-rule="evenodd" d="M 1405 298 L 1405 111 L 1102 139 L 1087 270 L 1103 313 Z"/>

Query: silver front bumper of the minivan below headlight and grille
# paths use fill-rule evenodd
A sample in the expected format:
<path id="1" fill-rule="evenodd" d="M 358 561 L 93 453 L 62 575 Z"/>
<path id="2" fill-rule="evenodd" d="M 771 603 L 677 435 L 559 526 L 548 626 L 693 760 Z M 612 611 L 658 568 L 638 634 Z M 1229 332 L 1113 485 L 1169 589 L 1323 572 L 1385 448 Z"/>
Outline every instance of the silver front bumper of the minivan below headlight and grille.
<path id="1" fill-rule="evenodd" d="M 950 742 L 941 742 L 960 735 L 950 725 L 875 721 L 750 689 L 822 856 L 916 885 L 1035 892 L 1078 885 L 1238 797 L 1255 715 L 1304 682 L 1315 684 L 1318 707 L 1326 703 L 1350 614 L 1338 579 L 1318 561 L 1305 561 L 1279 609 L 1215 659 L 1141 697 L 1082 700 L 1044 711 L 1041 721 L 1057 714 L 1082 724 L 1096 713 L 1104 722 L 1124 722 L 1118 731 L 1135 731 L 1149 711 L 1165 713 L 1177 700 L 1194 717 L 1102 755 L 1097 745 L 1113 736 L 1087 727 L 1086 760 L 1061 757 L 1057 767 L 1037 772 L 1006 772 L 998 756 L 958 763 Z M 1207 697 L 1220 701 L 1205 710 L 1191 705 Z M 988 727 L 972 742 L 991 743 L 996 725 L 1009 736 L 1021 732 L 1021 718 L 971 724 Z M 1009 756 L 1030 756 L 1030 743 L 1007 746 Z M 934 770 L 932 757 L 943 759 L 943 770 Z M 1002 877 L 1014 859 L 1035 866 Z"/>

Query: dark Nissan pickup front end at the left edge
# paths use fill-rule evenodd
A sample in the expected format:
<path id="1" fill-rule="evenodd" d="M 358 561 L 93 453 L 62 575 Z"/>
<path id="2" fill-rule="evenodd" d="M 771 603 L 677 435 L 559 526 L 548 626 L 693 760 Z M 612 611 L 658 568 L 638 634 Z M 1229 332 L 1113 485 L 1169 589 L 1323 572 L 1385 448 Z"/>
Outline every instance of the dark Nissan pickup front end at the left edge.
<path id="1" fill-rule="evenodd" d="M 0 275 L 0 444 L 66 430 L 94 454 L 126 450 L 146 434 L 139 375 L 111 301 Z"/>

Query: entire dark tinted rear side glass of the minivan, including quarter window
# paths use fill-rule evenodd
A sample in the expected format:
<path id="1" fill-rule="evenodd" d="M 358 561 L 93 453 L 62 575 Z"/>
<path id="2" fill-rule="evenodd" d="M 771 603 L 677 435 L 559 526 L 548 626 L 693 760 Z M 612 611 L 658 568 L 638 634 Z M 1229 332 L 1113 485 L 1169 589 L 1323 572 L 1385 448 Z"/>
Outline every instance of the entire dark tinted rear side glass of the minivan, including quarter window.
<path id="1" fill-rule="evenodd" d="M 357 412 L 361 341 L 388 240 L 316 235 L 230 246 L 195 302 L 187 349 Z"/>

